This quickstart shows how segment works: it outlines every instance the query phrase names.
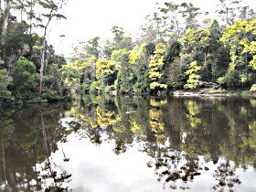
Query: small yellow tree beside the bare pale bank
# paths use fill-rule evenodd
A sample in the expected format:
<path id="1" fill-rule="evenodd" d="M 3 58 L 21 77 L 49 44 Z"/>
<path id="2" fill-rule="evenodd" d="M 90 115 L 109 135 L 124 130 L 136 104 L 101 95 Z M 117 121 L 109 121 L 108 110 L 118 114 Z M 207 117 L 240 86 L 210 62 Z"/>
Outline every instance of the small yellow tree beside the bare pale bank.
<path id="1" fill-rule="evenodd" d="M 201 66 L 197 65 L 197 61 L 193 61 L 190 63 L 189 69 L 186 71 L 186 74 L 189 75 L 187 84 L 185 85 L 185 88 L 194 90 L 197 88 L 198 80 L 200 80 L 200 76 L 198 75 L 198 72 L 200 72 Z"/>

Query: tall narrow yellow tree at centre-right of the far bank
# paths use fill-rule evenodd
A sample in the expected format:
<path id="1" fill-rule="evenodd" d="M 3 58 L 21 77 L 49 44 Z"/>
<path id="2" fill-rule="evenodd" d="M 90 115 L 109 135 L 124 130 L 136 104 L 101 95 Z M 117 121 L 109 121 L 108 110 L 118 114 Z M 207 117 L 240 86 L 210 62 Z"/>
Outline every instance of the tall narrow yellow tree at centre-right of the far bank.
<path id="1" fill-rule="evenodd" d="M 164 83 L 164 56 L 165 56 L 165 45 L 160 43 L 155 47 L 155 55 L 149 63 L 149 79 L 150 89 L 162 89 L 166 90 L 167 85 Z"/>

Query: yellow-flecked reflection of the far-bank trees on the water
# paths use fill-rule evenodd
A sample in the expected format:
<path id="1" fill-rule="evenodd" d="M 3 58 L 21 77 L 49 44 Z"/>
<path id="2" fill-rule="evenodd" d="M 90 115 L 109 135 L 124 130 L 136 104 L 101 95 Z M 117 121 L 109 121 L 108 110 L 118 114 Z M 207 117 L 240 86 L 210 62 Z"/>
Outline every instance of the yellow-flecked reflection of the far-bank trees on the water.
<path id="1" fill-rule="evenodd" d="M 174 160 L 180 163 L 180 158 L 190 162 L 187 164 L 187 171 L 184 170 L 181 175 L 165 170 L 164 175 L 168 175 L 165 178 L 168 182 L 193 180 L 198 174 L 197 171 L 200 171 L 197 166 L 198 155 L 208 156 L 209 161 L 217 163 L 219 156 L 224 156 L 227 165 L 229 161 L 234 161 L 236 167 L 254 165 L 255 155 L 247 154 L 251 150 L 255 153 L 253 144 L 249 144 L 253 140 L 254 133 L 248 133 L 248 127 L 253 126 L 251 124 L 255 121 L 254 107 L 250 100 L 157 97 L 143 100 L 117 97 L 114 100 L 102 98 L 96 102 L 87 101 L 89 102 L 85 103 L 84 107 L 77 109 L 78 111 L 73 108 L 72 112 L 75 119 L 85 127 L 92 128 L 93 132 L 89 132 L 96 133 L 95 141 L 99 144 L 102 143 L 101 133 L 107 133 L 109 139 L 116 141 L 114 150 L 121 153 L 126 153 L 129 144 L 134 141 L 144 141 L 146 143 L 144 152 L 154 158 L 165 156 L 169 151 L 184 152 L 185 155 L 182 157 L 160 158 L 159 163 L 155 165 L 155 167 L 169 166 Z M 87 109 L 88 107 L 90 110 Z M 245 121 L 245 118 L 250 121 Z M 240 135 L 245 134 L 251 135 L 251 138 L 241 138 Z M 170 145 L 160 147 L 165 142 Z M 230 154 L 231 151 L 233 154 Z M 165 161 L 168 163 L 162 164 Z M 219 171 L 223 172 L 224 167 L 229 169 L 227 165 L 219 166 Z M 221 177 L 218 174 L 216 176 Z M 230 176 L 229 179 L 228 177 L 222 178 L 222 180 L 226 179 L 226 182 L 219 181 L 215 188 L 232 188 L 235 184 L 240 184 L 236 176 L 233 178 Z"/>

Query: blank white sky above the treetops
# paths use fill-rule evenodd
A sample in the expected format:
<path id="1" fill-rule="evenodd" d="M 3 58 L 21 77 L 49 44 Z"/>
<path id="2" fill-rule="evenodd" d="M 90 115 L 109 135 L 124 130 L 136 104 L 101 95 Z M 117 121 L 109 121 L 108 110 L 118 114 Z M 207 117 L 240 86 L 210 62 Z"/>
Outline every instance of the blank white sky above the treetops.
<path id="1" fill-rule="evenodd" d="M 110 38 L 113 26 L 123 27 L 127 34 L 136 34 L 144 17 L 155 11 L 156 3 L 166 0 L 68 0 L 64 12 L 67 20 L 57 21 L 51 27 L 49 43 L 58 53 L 69 56 L 72 45 L 91 37 Z M 255 7 L 255 0 L 244 0 Z M 168 2 L 168 1 L 167 1 Z M 181 3 L 184 1 L 173 0 Z M 203 11 L 217 9 L 219 0 L 191 0 Z M 60 35 L 64 34 L 66 37 Z M 60 43 L 61 41 L 61 43 Z"/>

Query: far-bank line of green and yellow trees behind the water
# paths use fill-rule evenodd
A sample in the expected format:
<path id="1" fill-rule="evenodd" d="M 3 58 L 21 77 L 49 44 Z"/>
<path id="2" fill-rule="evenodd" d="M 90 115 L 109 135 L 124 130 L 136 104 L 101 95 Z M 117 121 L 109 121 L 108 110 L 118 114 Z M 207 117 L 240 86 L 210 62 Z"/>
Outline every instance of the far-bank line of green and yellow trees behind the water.
<path id="1" fill-rule="evenodd" d="M 91 93 L 193 91 L 204 81 L 256 91 L 253 8 L 219 0 L 215 13 L 212 19 L 192 3 L 158 4 L 135 40 L 115 26 L 112 39 L 80 42 L 61 69 L 65 81 Z"/>

